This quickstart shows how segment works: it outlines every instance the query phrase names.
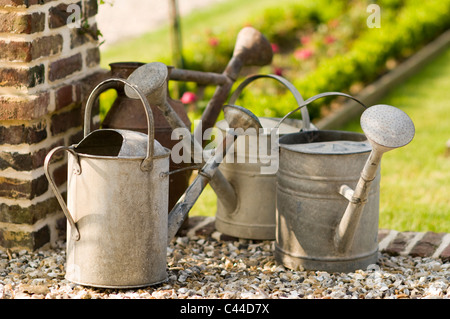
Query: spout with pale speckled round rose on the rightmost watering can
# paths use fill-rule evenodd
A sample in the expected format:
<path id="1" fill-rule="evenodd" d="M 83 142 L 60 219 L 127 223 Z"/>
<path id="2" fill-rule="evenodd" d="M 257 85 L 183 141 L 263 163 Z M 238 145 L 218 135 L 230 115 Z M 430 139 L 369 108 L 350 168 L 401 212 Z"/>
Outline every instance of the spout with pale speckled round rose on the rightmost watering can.
<path id="1" fill-rule="evenodd" d="M 374 105 L 366 109 L 361 116 L 361 128 L 372 151 L 355 189 L 347 185 L 339 189 L 339 193 L 349 201 L 334 237 L 335 248 L 339 253 L 347 252 L 353 243 L 381 157 L 390 150 L 409 144 L 415 134 L 414 124 L 408 115 L 390 105 Z"/>

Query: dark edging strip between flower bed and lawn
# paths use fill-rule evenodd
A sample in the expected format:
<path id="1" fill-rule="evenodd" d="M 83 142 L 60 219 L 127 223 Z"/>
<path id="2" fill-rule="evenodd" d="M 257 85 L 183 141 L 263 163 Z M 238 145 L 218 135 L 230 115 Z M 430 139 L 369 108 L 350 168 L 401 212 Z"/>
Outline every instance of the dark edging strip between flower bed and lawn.
<path id="1" fill-rule="evenodd" d="M 436 58 L 439 54 L 443 53 L 448 47 L 450 47 L 450 30 L 445 31 L 438 38 L 425 45 L 395 69 L 366 86 L 356 95 L 356 98 L 366 105 L 377 103 L 386 96 L 393 87 L 419 72 L 426 64 L 431 62 L 431 60 Z M 317 121 L 315 125 L 319 129 L 337 129 L 338 127 L 347 124 L 355 117 L 360 116 L 363 111 L 360 104 L 351 100 L 344 103 L 337 111 Z"/>

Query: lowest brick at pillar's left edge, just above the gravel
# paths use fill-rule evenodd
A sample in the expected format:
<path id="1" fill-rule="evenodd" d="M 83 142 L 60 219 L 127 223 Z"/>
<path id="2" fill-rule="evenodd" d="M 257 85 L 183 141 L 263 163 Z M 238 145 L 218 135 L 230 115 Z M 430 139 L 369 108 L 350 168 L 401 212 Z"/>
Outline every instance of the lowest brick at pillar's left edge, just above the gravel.
<path id="1" fill-rule="evenodd" d="M 35 250 L 50 241 L 50 228 L 48 225 L 34 232 L 10 231 L 0 229 L 0 246 L 5 248 L 20 247 Z"/>

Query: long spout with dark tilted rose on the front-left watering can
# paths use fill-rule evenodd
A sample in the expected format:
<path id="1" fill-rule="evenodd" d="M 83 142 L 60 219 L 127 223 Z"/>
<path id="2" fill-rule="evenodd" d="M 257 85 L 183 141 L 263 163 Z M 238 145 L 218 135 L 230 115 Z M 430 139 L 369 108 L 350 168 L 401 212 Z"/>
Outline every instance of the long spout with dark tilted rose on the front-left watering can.
<path id="1" fill-rule="evenodd" d="M 227 133 L 222 143 L 220 143 L 219 146 L 216 147 L 214 155 L 206 161 L 203 168 L 199 171 L 198 176 L 187 188 L 186 192 L 183 194 L 183 196 L 181 196 L 181 198 L 169 213 L 169 226 L 167 233 L 168 243 L 170 243 L 172 238 L 177 233 L 178 229 L 183 224 L 184 219 L 186 218 L 191 208 L 194 206 L 205 186 L 213 180 L 213 177 L 218 172 L 218 167 L 222 159 L 226 155 L 228 149 L 234 145 L 234 141 L 238 137 L 239 132 L 241 132 L 242 130 L 245 131 L 249 128 L 258 130 L 262 127 L 258 118 L 253 113 L 240 106 L 226 105 L 223 108 L 223 112 L 225 115 L 225 120 L 233 130 Z"/>

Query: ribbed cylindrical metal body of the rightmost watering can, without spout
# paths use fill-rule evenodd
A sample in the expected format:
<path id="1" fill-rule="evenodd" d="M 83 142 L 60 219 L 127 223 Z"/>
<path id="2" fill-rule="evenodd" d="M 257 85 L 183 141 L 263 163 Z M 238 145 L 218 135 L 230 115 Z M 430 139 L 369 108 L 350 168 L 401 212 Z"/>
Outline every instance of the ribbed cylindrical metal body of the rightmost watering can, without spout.
<path id="1" fill-rule="evenodd" d="M 335 245 L 336 228 L 371 152 L 363 134 L 311 131 L 280 138 L 275 258 L 291 269 L 353 271 L 377 261 L 380 173 L 365 203 L 348 251 Z"/>

